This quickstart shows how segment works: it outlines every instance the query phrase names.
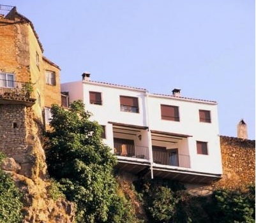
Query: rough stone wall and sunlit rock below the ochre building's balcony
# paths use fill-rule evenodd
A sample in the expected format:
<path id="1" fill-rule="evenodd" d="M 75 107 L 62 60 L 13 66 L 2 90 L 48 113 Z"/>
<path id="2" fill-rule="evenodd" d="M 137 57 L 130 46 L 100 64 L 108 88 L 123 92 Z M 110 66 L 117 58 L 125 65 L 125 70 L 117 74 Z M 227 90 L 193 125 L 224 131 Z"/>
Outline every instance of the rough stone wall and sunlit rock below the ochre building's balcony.
<path id="1" fill-rule="evenodd" d="M 15 122 L 15 127 L 13 127 Z M 40 122 L 33 110 L 20 104 L 0 104 L 0 151 L 7 158 L 1 168 L 24 194 L 23 223 L 71 223 L 74 206 L 51 198 Z"/>

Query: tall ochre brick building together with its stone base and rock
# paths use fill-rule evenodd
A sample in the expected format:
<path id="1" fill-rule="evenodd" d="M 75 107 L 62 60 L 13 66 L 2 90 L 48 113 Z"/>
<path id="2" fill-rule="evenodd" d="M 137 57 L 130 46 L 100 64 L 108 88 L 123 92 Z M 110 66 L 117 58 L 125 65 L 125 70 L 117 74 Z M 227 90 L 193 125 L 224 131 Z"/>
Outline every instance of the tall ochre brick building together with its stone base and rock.
<path id="1" fill-rule="evenodd" d="M 24 192 L 24 222 L 72 222 L 72 203 L 47 188 L 43 129 L 52 104 L 61 104 L 60 68 L 43 55 L 32 22 L 0 5 L 1 168 Z M 47 124 L 47 123 L 46 123 Z"/>

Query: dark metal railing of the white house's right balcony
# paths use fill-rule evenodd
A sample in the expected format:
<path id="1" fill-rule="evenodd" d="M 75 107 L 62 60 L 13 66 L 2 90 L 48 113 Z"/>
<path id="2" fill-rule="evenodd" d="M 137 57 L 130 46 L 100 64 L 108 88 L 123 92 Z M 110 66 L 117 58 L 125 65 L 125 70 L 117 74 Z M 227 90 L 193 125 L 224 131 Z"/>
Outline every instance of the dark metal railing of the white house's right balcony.
<path id="1" fill-rule="evenodd" d="M 174 154 L 171 152 L 163 152 L 153 150 L 153 162 L 156 164 L 179 166 L 190 168 L 190 156 L 183 154 Z"/>

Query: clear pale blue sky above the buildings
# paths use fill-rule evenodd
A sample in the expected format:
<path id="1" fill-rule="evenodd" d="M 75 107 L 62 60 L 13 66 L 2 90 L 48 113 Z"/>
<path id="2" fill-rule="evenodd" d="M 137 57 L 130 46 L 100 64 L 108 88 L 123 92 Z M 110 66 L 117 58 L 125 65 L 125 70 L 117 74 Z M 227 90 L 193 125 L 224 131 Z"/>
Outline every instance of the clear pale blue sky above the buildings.
<path id="1" fill-rule="evenodd" d="M 91 80 L 218 102 L 220 134 L 255 139 L 255 1 L 2 0 L 33 22 L 61 82 Z"/>

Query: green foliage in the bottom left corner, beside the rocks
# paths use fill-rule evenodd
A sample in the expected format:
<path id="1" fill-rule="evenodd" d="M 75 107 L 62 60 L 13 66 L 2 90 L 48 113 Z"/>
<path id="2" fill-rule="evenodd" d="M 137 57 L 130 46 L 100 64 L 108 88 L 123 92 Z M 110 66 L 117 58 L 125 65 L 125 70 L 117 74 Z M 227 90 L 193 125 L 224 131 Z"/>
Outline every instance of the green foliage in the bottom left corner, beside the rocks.
<path id="1" fill-rule="evenodd" d="M 0 153 L 0 163 L 4 155 Z M 0 169 L 0 223 L 21 222 L 22 194 L 9 175 Z"/>

